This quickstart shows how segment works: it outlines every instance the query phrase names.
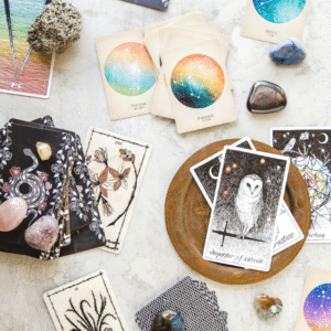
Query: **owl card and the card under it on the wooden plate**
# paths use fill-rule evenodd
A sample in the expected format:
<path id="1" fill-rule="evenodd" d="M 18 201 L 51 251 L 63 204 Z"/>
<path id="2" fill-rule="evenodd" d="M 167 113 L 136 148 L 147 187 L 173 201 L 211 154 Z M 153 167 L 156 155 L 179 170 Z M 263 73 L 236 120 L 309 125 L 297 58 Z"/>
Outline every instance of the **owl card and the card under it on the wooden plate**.
<path id="1" fill-rule="evenodd" d="M 204 259 L 268 271 L 275 254 L 303 238 L 282 201 L 288 167 L 244 138 L 191 168 L 212 207 Z"/>

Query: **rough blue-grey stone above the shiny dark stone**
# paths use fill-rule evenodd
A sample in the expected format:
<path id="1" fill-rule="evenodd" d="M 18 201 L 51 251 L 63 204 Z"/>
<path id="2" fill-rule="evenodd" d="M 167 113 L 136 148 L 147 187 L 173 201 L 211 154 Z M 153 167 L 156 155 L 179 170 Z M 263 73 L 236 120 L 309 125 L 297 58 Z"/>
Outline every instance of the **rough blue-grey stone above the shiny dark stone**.
<path id="1" fill-rule="evenodd" d="M 276 45 L 270 51 L 270 58 L 279 65 L 293 65 L 301 63 L 307 53 L 302 44 L 296 38 L 289 38 Z"/>

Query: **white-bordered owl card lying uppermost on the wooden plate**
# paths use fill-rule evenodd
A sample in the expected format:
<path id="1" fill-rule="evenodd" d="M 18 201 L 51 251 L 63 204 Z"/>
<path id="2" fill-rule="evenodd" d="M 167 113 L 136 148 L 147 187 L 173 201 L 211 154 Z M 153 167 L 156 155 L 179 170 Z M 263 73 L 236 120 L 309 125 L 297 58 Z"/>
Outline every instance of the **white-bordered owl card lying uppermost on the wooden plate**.
<path id="1" fill-rule="evenodd" d="M 289 159 L 225 147 L 203 258 L 268 271 Z"/>

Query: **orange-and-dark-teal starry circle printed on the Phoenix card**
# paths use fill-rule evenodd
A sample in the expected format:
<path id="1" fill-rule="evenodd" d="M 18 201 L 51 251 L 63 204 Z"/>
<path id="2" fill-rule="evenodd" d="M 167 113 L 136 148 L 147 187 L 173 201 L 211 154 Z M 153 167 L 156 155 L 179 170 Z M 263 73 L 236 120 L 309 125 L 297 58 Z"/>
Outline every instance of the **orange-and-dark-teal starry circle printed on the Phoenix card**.
<path id="1" fill-rule="evenodd" d="M 220 64 L 202 54 L 182 58 L 171 73 L 171 89 L 177 99 L 191 108 L 213 105 L 225 85 Z"/>

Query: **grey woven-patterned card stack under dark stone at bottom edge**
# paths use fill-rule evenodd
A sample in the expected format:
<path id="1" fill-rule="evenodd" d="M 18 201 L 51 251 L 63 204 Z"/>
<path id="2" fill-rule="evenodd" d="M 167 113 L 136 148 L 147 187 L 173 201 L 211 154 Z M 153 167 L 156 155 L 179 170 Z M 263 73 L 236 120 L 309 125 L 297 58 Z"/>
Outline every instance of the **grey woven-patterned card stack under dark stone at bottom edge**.
<path id="1" fill-rule="evenodd" d="M 205 282 L 185 277 L 136 313 L 142 331 L 149 331 L 156 314 L 172 309 L 181 313 L 186 331 L 228 331 L 227 312 L 220 311 L 214 291 Z"/>

